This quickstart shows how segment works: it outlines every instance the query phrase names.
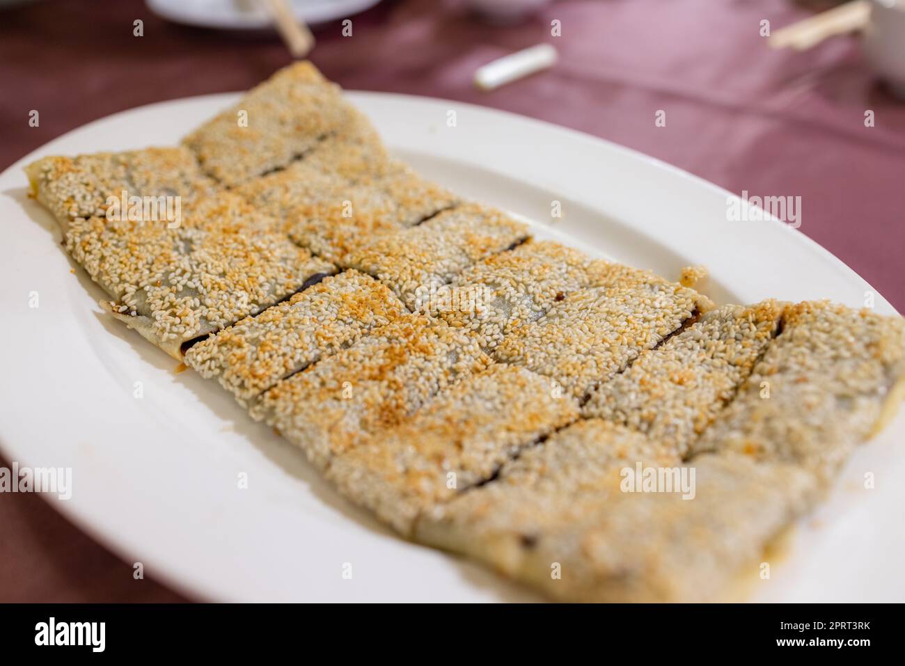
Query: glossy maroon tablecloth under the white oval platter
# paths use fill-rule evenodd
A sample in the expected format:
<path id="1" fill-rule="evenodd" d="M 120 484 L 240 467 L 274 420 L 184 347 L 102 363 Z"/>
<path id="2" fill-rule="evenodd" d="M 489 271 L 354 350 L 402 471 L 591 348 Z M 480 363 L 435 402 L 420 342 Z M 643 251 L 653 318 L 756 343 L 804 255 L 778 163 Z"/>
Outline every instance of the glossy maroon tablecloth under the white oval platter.
<path id="1" fill-rule="evenodd" d="M 458 3 L 390 1 L 319 29 L 311 59 L 346 88 L 465 100 L 581 129 L 751 195 L 802 197 L 801 231 L 905 309 L 905 105 L 852 38 L 769 51 L 803 17 L 787 0 L 586 0 L 517 27 Z M 132 22 L 144 21 L 144 36 Z M 562 36 L 551 37 L 558 19 Z M 493 92 L 474 70 L 538 42 L 556 68 Z M 0 10 L 0 167 L 72 128 L 139 104 L 243 90 L 290 58 L 279 41 L 167 24 L 140 0 L 59 0 Z M 38 109 L 41 124 L 28 125 Z M 667 114 L 656 128 L 654 113 Z M 872 110 L 875 126 L 864 125 Z M 9 466 L 0 459 L 0 465 Z M 177 600 L 43 500 L 0 494 L 0 601 Z"/>

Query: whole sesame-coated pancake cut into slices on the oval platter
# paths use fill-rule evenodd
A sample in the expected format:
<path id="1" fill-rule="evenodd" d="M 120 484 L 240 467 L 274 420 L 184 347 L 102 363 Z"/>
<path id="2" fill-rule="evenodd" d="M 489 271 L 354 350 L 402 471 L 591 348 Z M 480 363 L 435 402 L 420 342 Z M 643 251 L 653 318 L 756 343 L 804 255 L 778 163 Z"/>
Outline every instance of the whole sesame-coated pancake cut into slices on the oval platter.
<path id="1" fill-rule="evenodd" d="M 702 266 L 532 242 L 308 62 L 180 147 L 25 171 L 113 317 L 406 538 L 554 599 L 722 598 L 905 396 L 903 319 L 712 309 Z"/>

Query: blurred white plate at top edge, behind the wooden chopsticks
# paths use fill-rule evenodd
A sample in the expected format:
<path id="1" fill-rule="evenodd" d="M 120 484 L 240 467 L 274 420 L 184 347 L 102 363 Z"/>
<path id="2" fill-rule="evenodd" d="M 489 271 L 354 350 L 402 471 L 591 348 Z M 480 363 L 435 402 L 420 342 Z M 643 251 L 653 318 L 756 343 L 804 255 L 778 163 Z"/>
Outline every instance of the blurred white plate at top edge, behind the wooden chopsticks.
<path id="1" fill-rule="evenodd" d="M 292 14 L 307 24 L 348 18 L 380 0 L 290 0 Z M 216 30 L 265 30 L 273 21 L 258 0 L 145 0 L 154 14 L 177 24 Z"/>

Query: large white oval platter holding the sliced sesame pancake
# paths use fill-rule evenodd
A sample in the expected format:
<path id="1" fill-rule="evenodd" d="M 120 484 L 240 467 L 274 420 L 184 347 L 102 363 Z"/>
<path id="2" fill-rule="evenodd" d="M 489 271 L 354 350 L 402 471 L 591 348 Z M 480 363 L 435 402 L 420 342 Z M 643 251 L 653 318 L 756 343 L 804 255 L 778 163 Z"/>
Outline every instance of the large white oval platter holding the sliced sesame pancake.
<path id="1" fill-rule="evenodd" d="M 831 298 L 861 306 L 871 287 L 775 220 L 728 222 L 729 194 L 624 147 L 452 101 L 349 93 L 387 144 L 425 176 L 524 215 L 556 237 L 673 279 L 710 267 L 716 300 Z M 52 505 L 148 575 L 197 598 L 492 601 L 537 597 L 480 566 L 395 538 L 319 479 L 303 456 L 214 382 L 103 315 L 103 294 L 26 196 L 24 164 L 173 145 L 236 99 L 169 101 L 97 120 L 0 176 L 0 445 L 31 467 L 70 467 Z M 455 111 L 454 127 L 448 119 Z M 551 205 L 563 216 L 551 223 Z M 805 221 L 805 224 L 807 222 Z M 34 292 L 38 308 L 30 308 Z M 875 308 L 891 313 L 879 295 Z M 140 382 L 143 397 L 137 398 Z M 749 598 L 901 601 L 900 417 L 856 453 L 833 496 L 795 531 Z M 875 488 L 863 478 L 873 472 Z M 238 488 L 241 473 L 248 488 Z M 351 565 L 352 577 L 343 577 Z M 345 568 L 344 568 L 345 567 Z M 140 585 L 140 582 L 136 582 Z"/>

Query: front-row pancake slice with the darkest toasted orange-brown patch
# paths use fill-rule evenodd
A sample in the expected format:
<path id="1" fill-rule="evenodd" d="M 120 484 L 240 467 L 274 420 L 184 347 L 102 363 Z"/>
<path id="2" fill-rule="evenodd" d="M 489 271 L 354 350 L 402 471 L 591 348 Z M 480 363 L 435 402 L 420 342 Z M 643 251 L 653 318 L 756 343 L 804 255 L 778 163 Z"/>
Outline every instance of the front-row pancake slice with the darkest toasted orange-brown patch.
<path id="1" fill-rule="evenodd" d="M 433 395 L 490 364 L 461 331 L 409 315 L 279 382 L 251 414 L 323 470 L 334 456 L 401 423 Z"/>

